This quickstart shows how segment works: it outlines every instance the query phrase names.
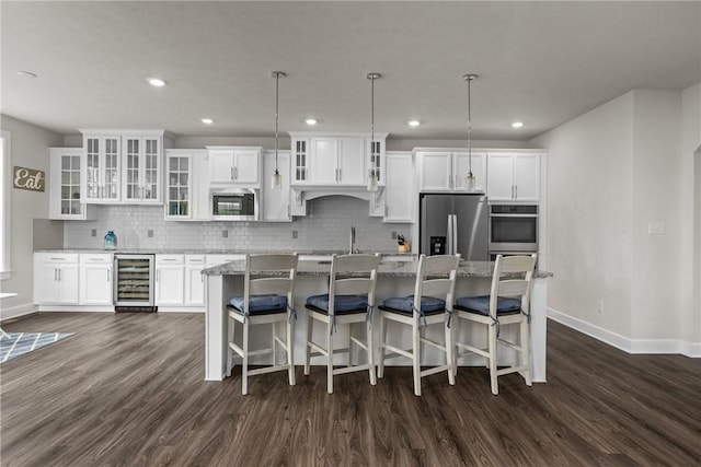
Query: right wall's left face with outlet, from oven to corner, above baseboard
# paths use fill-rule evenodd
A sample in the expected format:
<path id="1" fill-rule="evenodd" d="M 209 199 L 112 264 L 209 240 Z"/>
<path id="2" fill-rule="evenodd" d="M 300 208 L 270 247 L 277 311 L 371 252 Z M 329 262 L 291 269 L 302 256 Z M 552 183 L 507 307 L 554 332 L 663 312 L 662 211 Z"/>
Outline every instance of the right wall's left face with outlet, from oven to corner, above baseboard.
<path id="1" fill-rule="evenodd" d="M 548 306 L 622 336 L 631 335 L 632 109 L 629 93 L 532 141 L 548 149 Z"/>

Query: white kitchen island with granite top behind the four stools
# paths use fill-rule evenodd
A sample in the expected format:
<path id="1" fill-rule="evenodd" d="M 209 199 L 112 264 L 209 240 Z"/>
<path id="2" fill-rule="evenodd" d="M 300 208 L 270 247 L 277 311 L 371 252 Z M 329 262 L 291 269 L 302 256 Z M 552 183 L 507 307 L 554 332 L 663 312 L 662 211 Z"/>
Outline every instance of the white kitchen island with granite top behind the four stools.
<path id="1" fill-rule="evenodd" d="M 295 364 L 303 364 L 304 341 L 307 336 L 307 314 L 304 302 L 308 296 L 327 293 L 327 276 L 331 269 L 329 259 L 300 259 L 297 269 L 297 280 L 295 284 L 295 310 L 297 311 L 297 323 L 295 329 Z M 416 275 L 417 259 L 411 260 L 382 260 L 378 269 L 378 280 L 376 290 L 376 305 L 382 300 L 391 296 L 411 295 L 414 293 L 414 280 Z M 461 261 L 456 281 L 456 297 L 464 295 L 489 294 L 492 283 L 493 261 Z M 206 299 L 206 320 L 205 320 L 205 380 L 222 381 L 227 374 L 227 329 L 228 314 L 226 303 L 233 295 L 243 294 L 243 276 L 245 264 L 243 260 L 227 262 L 205 269 L 205 299 Z M 547 331 L 547 283 L 548 277 L 552 273 L 537 271 L 533 276 L 531 290 L 531 341 L 532 341 L 532 380 L 535 382 L 545 382 L 545 331 Z M 377 322 L 377 314 L 375 319 Z M 453 320 L 456 323 L 456 320 Z M 377 328 L 376 328 L 377 329 Z M 256 334 L 255 331 L 261 331 Z M 251 331 L 251 342 L 253 348 L 257 340 L 269 338 L 268 329 L 255 329 Z M 264 334 L 263 334 L 264 331 Z M 439 332 L 437 329 L 429 329 L 432 332 Z M 503 329 L 507 337 L 509 328 Z M 515 330 L 514 330 L 515 331 Z M 441 332 L 441 331 L 440 331 Z M 471 329 L 466 325 L 460 328 L 462 334 L 473 334 L 473 341 L 486 340 L 486 332 L 483 329 Z M 430 336 L 430 334 L 429 334 Z M 334 338 L 343 339 L 343 330 L 338 329 L 338 336 Z M 379 336 L 375 336 L 376 343 Z M 403 328 L 393 328 L 390 324 L 388 328 L 388 339 L 393 343 L 404 342 L 409 345 L 411 332 Z M 317 339 L 317 337 L 315 337 Z M 321 337 L 319 337 L 321 339 Z M 378 346 L 376 346 L 378 349 Z M 499 349 L 499 352 L 502 349 Z M 427 348 L 423 354 L 425 364 L 434 363 L 439 355 Z M 515 358 L 509 349 L 504 349 L 499 353 L 499 360 L 512 361 Z M 252 364 L 256 362 L 251 361 Z M 261 361 L 260 363 L 267 363 Z M 314 360 L 312 359 L 312 364 Z M 394 359 L 388 364 L 410 364 L 410 360 Z M 484 359 L 479 355 L 461 358 L 459 365 L 484 365 Z"/>

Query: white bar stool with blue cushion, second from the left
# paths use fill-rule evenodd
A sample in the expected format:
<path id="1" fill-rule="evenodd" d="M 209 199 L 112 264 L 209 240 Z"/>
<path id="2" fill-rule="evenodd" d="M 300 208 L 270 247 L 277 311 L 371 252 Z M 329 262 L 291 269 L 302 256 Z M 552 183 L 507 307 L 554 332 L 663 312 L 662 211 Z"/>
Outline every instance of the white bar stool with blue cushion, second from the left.
<path id="1" fill-rule="evenodd" d="M 377 384 L 375 374 L 375 349 L 372 346 L 372 308 L 375 306 L 375 285 L 377 283 L 377 268 L 379 255 L 333 255 L 329 277 L 329 293 L 312 295 L 307 299 L 308 310 L 307 345 L 304 374 L 309 375 L 312 357 L 326 358 L 326 390 L 333 394 L 333 376 L 344 373 L 365 371 L 370 375 L 370 384 Z M 314 323 L 324 325 L 326 335 L 325 347 L 314 342 Z M 366 340 L 361 341 L 353 336 L 354 324 L 365 324 Z M 334 347 L 334 334 L 338 325 L 348 325 L 348 342 L 346 348 Z M 353 364 L 352 345 L 364 349 L 367 363 Z M 312 352 L 312 350 L 314 352 Z M 348 362 L 345 367 L 334 369 L 335 353 L 347 353 Z"/>

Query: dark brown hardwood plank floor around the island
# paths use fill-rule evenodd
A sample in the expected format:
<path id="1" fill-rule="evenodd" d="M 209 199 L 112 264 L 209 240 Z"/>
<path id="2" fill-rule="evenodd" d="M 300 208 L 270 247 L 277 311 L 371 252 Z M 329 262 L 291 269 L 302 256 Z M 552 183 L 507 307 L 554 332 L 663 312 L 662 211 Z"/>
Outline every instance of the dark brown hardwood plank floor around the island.
<path id="1" fill-rule="evenodd" d="M 461 367 L 204 381 L 204 315 L 42 313 L 74 336 L 0 365 L 2 466 L 701 465 L 701 360 L 630 355 L 549 323 L 547 384 Z"/>

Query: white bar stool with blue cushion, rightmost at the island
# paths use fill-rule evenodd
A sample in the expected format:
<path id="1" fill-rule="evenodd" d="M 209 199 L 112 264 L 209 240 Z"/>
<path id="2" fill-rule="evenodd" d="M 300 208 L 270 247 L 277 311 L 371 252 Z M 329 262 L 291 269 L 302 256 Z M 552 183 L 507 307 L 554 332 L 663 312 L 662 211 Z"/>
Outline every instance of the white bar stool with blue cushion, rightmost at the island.
<path id="1" fill-rule="evenodd" d="M 526 385 L 530 386 L 530 281 L 536 269 L 536 255 L 496 257 L 492 289 L 489 295 L 462 296 L 456 300 L 457 327 L 464 319 L 485 325 L 487 347 L 480 349 L 468 342 L 456 342 L 460 349 L 486 358 L 490 369 L 492 394 L 499 394 L 497 377 L 524 372 Z M 518 325 L 520 342 L 513 342 L 499 336 L 506 325 Z M 497 345 L 506 346 L 520 353 L 520 364 L 497 370 Z M 462 352 L 464 354 L 467 352 Z M 460 353 L 459 353 L 460 354 Z"/>

